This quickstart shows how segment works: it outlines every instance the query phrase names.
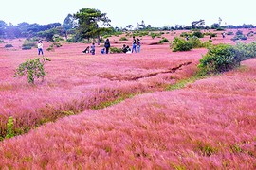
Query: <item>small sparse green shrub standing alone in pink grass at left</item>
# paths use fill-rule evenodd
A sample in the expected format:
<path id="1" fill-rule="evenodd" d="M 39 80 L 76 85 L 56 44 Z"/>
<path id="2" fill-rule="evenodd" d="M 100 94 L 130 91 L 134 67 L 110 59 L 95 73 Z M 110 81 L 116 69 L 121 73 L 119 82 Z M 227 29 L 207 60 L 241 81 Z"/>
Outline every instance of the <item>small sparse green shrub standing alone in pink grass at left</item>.
<path id="1" fill-rule="evenodd" d="M 42 78 L 46 76 L 45 63 L 50 61 L 48 58 L 27 59 L 26 62 L 21 63 L 16 69 L 14 77 L 27 76 L 28 83 L 34 84 L 35 78 Z"/>

